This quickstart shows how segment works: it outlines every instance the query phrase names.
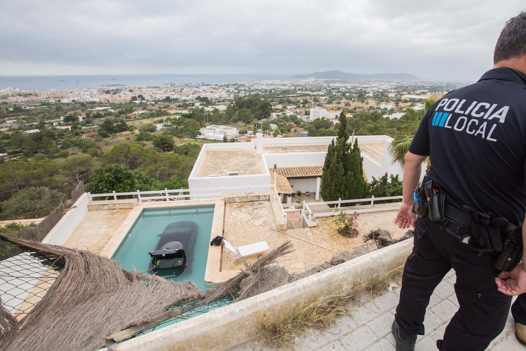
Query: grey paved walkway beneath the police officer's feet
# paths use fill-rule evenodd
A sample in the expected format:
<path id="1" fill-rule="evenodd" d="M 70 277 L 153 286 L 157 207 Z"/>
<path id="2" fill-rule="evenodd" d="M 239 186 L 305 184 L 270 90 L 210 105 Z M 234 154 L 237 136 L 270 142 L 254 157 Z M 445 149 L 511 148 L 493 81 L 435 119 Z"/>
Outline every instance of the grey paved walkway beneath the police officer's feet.
<path id="1" fill-rule="evenodd" d="M 458 309 L 454 294 L 455 282 L 452 271 L 434 291 L 426 314 L 426 335 L 417 339 L 416 350 L 436 350 L 436 340 L 441 339 L 450 318 Z M 296 350 L 394 350 L 395 339 L 391 324 L 395 318 L 400 288 L 358 306 L 351 306 L 350 316 L 340 317 L 337 325 L 325 330 L 310 330 L 305 337 L 296 340 Z M 511 351 L 526 347 L 515 339 L 515 326 L 511 314 L 506 327 L 495 338 L 488 350 Z M 271 350 L 258 338 L 234 348 L 236 351 Z"/>

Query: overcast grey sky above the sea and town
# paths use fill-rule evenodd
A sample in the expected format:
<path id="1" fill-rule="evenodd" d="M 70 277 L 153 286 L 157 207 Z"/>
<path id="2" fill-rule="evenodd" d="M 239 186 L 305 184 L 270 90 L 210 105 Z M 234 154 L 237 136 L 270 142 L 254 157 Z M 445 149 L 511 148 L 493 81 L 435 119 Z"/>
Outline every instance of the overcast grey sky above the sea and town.
<path id="1" fill-rule="evenodd" d="M 0 74 L 341 70 L 473 81 L 524 9 L 524 0 L 4 0 Z"/>

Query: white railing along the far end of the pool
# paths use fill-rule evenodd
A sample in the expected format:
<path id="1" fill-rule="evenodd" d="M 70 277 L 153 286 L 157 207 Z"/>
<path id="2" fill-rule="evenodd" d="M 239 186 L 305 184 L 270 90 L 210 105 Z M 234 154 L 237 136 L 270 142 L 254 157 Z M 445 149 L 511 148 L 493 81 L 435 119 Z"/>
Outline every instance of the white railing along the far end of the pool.
<path id="1" fill-rule="evenodd" d="M 268 189 L 271 187 L 270 184 L 264 184 L 264 185 L 254 185 L 251 186 L 250 184 L 247 184 L 246 186 L 240 186 L 240 187 L 219 187 L 219 188 L 200 188 L 200 189 L 165 189 L 165 190 L 154 190 L 154 191 L 130 191 L 130 192 L 109 192 L 109 193 L 103 193 L 103 194 L 92 194 L 88 192 L 89 201 L 93 201 L 93 198 L 113 198 L 114 200 L 118 200 L 118 196 L 126 196 L 126 197 L 132 197 L 134 199 L 138 199 L 139 202 L 144 201 L 155 201 L 155 200 L 161 200 L 161 201 L 176 201 L 178 199 L 185 199 L 190 198 L 192 200 L 196 200 L 198 198 L 205 198 L 205 199 L 222 199 L 224 196 L 225 190 L 236 190 L 236 189 L 247 189 L 248 192 L 251 192 L 252 190 L 256 189 Z M 245 192 L 245 191 L 243 191 Z M 186 193 L 186 194 L 185 194 Z M 105 199 L 100 199 L 105 200 Z M 284 213 L 285 214 L 285 213 Z"/>

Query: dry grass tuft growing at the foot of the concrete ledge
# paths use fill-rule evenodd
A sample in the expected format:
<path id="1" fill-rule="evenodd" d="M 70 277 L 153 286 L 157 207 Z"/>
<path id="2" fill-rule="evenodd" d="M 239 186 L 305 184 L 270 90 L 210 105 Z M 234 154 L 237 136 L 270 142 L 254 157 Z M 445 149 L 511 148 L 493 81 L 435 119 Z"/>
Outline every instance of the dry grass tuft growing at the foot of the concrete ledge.
<path id="1" fill-rule="evenodd" d="M 305 335 L 308 328 L 325 329 L 348 314 L 347 305 L 353 297 L 354 294 L 326 295 L 315 301 L 303 300 L 271 317 L 258 328 L 258 333 L 272 347 L 294 349 L 295 338 Z"/>

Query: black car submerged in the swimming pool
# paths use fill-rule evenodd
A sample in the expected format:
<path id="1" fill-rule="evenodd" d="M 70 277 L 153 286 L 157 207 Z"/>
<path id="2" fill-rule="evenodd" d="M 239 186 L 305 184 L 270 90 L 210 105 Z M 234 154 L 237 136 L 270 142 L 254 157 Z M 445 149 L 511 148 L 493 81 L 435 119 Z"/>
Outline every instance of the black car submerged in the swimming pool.
<path id="1" fill-rule="evenodd" d="M 154 251 L 150 251 L 150 272 L 162 276 L 177 277 L 192 261 L 197 239 L 197 223 L 173 222 L 159 235 Z"/>

